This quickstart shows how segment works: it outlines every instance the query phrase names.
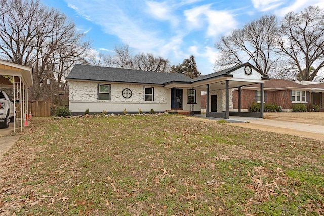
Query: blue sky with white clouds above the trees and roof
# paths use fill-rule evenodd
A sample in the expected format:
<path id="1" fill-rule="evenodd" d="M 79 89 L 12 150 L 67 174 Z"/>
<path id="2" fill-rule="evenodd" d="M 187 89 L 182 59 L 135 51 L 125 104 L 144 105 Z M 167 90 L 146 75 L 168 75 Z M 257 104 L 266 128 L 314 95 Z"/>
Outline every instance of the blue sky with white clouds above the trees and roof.
<path id="1" fill-rule="evenodd" d="M 114 55 L 128 44 L 132 54 L 153 53 L 178 65 L 190 55 L 203 75 L 214 72 L 215 43 L 265 14 L 281 19 L 324 0 L 41 0 L 71 18 L 92 41 L 93 52 Z"/>

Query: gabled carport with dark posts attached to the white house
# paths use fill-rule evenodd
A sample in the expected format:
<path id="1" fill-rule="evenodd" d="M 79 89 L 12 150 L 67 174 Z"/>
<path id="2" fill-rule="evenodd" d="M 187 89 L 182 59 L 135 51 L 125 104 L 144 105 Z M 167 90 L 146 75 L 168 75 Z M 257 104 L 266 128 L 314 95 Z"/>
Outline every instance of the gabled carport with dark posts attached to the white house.
<path id="1" fill-rule="evenodd" d="M 229 119 L 229 116 L 263 118 L 264 82 L 270 78 L 250 63 L 240 64 L 193 79 L 191 86 L 206 91 L 206 117 Z M 241 87 L 260 84 L 260 112 L 241 112 Z M 238 112 L 230 111 L 230 89 L 238 88 Z M 216 104 L 216 105 L 215 105 Z M 233 107 L 231 108 L 233 109 Z"/>

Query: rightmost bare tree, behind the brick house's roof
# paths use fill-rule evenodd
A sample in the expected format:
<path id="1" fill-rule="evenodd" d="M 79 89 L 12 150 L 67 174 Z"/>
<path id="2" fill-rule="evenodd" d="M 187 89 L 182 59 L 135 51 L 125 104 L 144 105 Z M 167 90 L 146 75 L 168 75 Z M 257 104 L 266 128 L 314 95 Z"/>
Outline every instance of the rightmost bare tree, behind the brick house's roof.
<path id="1" fill-rule="evenodd" d="M 309 6 L 290 12 L 281 21 L 278 40 L 281 53 L 289 58 L 297 79 L 312 81 L 324 67 L 324 10 Z"/>

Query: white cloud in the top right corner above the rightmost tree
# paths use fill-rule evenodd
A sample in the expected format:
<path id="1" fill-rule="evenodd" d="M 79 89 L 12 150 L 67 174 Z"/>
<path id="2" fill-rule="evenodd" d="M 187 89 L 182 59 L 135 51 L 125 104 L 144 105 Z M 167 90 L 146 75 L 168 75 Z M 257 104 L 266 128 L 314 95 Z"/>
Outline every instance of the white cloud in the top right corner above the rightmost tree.
<path id="1" fill-rule="evenodd" d="M 275 11 L 275 14 L 277 16 L 283 17 L 291 11 L 298 13 L 310 5 L 316 5 L 321 8 L 324 8 L 324 1 L 323 0 L 308 0 L 308 1 L 296 0 L 293 4 Z"/>

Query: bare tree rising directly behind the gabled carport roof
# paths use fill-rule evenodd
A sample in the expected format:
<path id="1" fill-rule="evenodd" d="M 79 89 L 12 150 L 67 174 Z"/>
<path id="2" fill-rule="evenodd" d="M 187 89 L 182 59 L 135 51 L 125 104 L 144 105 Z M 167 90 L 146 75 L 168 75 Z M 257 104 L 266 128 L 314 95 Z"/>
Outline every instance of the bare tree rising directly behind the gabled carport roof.
<path id="1" fill-rule="evenodd" d="M 264 15 L 223 36 L 215 45 L 221 54 L 216 63 L 228 67 L 252 61 L 261 72 L 270 74 L 279 59 L 275 55 L 277 23 L 275 15 Z"/>

